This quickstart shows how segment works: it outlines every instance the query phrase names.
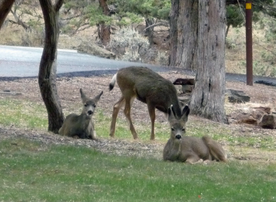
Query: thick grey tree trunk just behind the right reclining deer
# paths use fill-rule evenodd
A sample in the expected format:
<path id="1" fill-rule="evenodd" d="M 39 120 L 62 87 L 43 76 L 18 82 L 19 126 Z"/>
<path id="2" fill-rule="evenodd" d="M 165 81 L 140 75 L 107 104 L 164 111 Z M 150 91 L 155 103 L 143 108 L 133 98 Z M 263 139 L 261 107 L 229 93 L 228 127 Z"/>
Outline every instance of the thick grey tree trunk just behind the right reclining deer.
<path id="1" fill-rule="evenodd" d="M 225 94 L 225 0 L 199 0 L 198 71 L 193 114 L 227 123 Z"/>

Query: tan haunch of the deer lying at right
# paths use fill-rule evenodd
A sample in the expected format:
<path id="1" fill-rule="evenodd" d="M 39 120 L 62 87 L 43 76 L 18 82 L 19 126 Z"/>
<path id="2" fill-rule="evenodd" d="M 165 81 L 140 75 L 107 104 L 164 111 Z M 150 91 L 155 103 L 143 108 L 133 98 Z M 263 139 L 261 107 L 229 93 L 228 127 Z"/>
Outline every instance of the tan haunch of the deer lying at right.
<path id="1" fill-rule="evenodd" d="M 212 160 L 222 161 L 222 162 L 227 161 L 226 152 L 218 142 L 216 142 L 209 136 L 203 136 L 202 140 L 208 146 Z"/>

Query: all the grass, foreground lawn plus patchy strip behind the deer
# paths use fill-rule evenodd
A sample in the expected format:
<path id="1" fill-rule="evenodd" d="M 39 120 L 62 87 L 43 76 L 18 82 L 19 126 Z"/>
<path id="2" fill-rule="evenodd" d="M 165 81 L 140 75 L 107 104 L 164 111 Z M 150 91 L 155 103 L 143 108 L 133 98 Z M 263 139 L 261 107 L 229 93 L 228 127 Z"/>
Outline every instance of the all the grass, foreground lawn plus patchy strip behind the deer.
<path id="1" fill-rule="evenodd" d="M 2 125 L 47 130 L 43 105 L 7 98 L 0 100 L 0 107 Z M 95 121 L 98 136 L 108 138 L 110 118 L 98 109 Z M 254 152 L 256 145 L 259 150 L 275 148 L 272 137 L 260 141 L 237 136 L 216 123 L 200 124 L 188 121 L 188 134 L 202 136 L 208 131 L 229 146 L 243 143 L 241 152 Z M 165 125 L 156 124 L 157 142 L 168 138 Z M 140 141 L 148 142 L 150 128 L 139 123 L 136 128 Z M 118 120 L 116 138 L 132 139 L 123 120 Z M 0 141 L 0 176 L 0 201 L 276 201 L 275 161 L 187 165 L 26 138 Z"/>

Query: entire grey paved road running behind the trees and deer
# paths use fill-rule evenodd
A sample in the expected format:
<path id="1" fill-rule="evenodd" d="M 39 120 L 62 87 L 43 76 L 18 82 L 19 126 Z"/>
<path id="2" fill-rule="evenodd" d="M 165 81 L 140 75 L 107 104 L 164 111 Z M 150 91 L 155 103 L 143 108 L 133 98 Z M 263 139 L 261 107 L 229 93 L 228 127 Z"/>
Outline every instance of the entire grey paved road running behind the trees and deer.
<path id="1" fill-rule="evenodd" d="M 18 77 L 37 77 L 42 48 L 18 47 L 0 45 L 0 80 L 12 80 Z M 57 76 L 92 76 L 114 74 L 118 69 L 129 66 L 146 66 L 157 72 L 172 70 L 164 66 L 150 64 L 115 61 L 99 58 L 87 54 L 80 54 L 73 50 L 58 49 Z M 191 70 L 173 68 L 173 70 L 188 75 L 195 75 Z M 230 81 L 246 82 L 246 75 L 226 74 Z M 275 77 L 254 76 L 254 82 L 265 82 L 276 86 Z"/>

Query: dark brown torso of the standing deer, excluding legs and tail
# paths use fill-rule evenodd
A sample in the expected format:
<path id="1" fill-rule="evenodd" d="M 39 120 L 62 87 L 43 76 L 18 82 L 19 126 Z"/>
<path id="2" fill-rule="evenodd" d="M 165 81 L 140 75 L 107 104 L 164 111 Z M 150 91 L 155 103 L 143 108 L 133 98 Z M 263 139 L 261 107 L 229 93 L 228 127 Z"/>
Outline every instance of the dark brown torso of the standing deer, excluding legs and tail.
<path id="1" fill-rule="evenodd" d="M 172 82 L 158 73 L 145 67 L 123 68 L 117 72 L 117 83 L 124 95 L 134 90 L 137 99 L 164 113 L 168 113 L 168 108 L 173 105 L 180 117 L 176 89 Z"/>

